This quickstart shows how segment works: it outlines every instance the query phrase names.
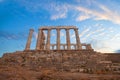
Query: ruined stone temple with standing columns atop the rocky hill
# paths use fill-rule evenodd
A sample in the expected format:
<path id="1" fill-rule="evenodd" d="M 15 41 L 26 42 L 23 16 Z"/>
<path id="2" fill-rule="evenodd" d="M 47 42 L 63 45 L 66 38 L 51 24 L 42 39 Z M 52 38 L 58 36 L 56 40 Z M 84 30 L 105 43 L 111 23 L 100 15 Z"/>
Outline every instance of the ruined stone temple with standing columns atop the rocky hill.
<path id="1" fill-rule="evenodd" d="M 60 43 L 60 31 L 64 29 L 66 32 L 66 44 L 61 44 Z M 57 40 L 56 44 L 51 44 L 50 43 L 50 38 L 51 38 L 51 30 L 56 30 L 57 31 Z M 74 30 L 75 32 L 75 37 L 76 37 L 76 44 L 73 44 L 70 42 L 70 30 Z M 47 38 L 45 38 L 45 33 L 44 31 L 47 31 Z M 25 51 L 30 50 L 30 44 L 31 44 L 31 39 L 33 35 L 34 30 L 30 29 L 27 44 Z M 45 43 L 46 41 L 46 43 Z M 74 48 L 71 48 L 73 46 Z M 63 49 L 61 49 L 61 47 Z M 84 47 L 84 48 L 82 48 Z M 78 34 L 78 28 L 75 26 L 56 26 L 56 27 L 40 27 L 38 31 L 38 38 L 37 38 L 37 44 L 36 44 L 36 50 L 92 50 L 92 47 L 90 44 L 85 44 L 80 42 L 80 37 Z"/>

